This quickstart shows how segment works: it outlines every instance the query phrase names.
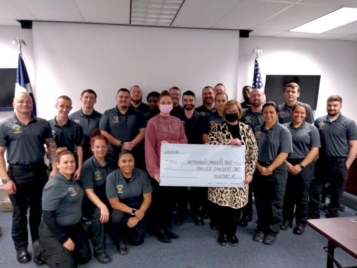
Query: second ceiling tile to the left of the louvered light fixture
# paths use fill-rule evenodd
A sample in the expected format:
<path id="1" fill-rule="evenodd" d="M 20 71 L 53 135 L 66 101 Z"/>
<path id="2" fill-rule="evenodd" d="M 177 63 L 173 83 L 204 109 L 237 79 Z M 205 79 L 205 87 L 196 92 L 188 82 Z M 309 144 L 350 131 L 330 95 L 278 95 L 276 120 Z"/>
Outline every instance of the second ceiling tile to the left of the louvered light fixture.
<path id="1" fill-rule="evenodd" d="M 17 0 L 38 20 L 81 21 L 83 18 L 73 0 Z"/>

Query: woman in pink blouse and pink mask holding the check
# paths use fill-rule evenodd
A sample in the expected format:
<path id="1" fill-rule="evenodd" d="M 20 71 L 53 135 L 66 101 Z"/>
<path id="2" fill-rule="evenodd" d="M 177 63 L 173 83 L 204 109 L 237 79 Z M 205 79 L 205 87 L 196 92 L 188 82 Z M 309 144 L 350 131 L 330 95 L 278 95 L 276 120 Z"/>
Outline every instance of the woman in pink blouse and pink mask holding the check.
<path id="1" fill-rule="evenodd" d="M 171 231 L 174 208 L 172 187 L 160 186 L 160 148 L 162 143 L 187 143 L 184 126 L 179 118 L 171 116 L 172 98 L 167 90 L 159 97 L 160 113 L 152 117 L 146 126 L 145 158 L 152 188 L 152 227 L 161 242 L 169 243 L 179 238 Z"/>

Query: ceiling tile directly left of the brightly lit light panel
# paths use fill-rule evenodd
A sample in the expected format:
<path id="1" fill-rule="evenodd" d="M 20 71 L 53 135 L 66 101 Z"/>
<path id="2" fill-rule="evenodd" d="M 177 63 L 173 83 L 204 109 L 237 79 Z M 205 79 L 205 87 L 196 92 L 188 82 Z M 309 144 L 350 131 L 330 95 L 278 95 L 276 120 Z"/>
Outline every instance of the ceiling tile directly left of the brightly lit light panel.
<path id="1" fill-rule="evenodd" d="M 257 30 L 288 31 L 338 9 L 336 6 L 294 4 L 272 18 L 254 27 Z"/>

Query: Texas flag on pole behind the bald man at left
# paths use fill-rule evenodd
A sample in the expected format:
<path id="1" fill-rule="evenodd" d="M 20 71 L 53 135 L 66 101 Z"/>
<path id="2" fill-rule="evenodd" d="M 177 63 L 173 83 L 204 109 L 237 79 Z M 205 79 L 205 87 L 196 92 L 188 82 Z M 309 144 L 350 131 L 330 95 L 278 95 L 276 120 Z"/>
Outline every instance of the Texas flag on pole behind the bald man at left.
<path id="1" fill-rule="evenodd" d="M 32 114 L 37 115 L 36 113 L 36 102 L 34 97 L 34 92 L 32 91 L 29 74 L 27 73 L 27 69 L 21 54 L 18 55 L 18 67 L 17 67 L 17 77 L 16 77 L 16 85 L 15 85 L 15 95 L 20 92 L 27 92 L 33 102 L 33 110 Z"/>

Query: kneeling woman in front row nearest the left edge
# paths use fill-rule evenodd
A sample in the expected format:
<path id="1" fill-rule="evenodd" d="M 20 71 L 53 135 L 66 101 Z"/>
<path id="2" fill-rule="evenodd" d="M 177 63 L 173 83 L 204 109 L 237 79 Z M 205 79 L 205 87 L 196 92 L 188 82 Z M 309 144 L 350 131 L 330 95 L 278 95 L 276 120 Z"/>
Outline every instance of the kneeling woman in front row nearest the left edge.
<path id="1" fill-rule="evenodd" d="M 89 242 L 81 224 L 84 191 L 73 179 L 75 160 L 67 148 L 56 151 L 58 172 L 42 193 L 40 239 L 33 245 L 33 261 L 50 267 L 77 267 L 91 257 Z"/>

